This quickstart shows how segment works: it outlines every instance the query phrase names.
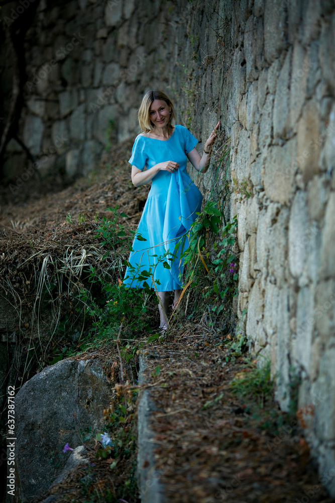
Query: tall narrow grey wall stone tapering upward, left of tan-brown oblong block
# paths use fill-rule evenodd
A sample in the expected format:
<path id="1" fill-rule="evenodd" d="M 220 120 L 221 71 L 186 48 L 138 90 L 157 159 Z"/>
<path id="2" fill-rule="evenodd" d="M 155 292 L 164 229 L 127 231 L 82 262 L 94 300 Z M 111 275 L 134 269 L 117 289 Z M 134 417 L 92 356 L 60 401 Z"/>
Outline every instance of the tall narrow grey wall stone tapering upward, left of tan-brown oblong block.
<path id="1" fill-rule="evenodd" d="M 291 71 L 292 49 L 286 54 L 283 67 L 277 82 L 275 103 L 273 109 L 273 136 L 274 138 L 288 138 L 291 127 L 289 122 L 290 107 L 290 71 Z"/>

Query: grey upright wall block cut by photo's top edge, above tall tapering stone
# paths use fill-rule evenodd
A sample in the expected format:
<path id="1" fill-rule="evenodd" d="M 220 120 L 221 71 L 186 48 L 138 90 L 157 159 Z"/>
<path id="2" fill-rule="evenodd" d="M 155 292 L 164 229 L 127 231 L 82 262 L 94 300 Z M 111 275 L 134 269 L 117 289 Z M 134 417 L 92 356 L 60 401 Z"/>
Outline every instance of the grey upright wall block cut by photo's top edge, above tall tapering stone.
<path id="1" fill-rule="evenodd" d="M 282 0 L 265 0 L 264 55 L 268 63 L 272 63 L 287 45 L 285 17 Z"/>

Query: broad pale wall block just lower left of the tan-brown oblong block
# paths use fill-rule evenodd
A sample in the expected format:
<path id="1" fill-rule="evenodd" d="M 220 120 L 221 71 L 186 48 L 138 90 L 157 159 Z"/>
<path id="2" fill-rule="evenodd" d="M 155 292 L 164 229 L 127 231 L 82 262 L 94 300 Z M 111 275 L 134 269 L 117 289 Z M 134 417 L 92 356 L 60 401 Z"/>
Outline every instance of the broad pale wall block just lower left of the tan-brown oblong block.
<path id="1" fill-rule="evenodd" d="M 272 200 L 288 204 L 294 193 L 296 172 L 296 138 L 288 140 L 282 147 L 270 148 L 267 161 L 262 166 L 265 194 Z"/>

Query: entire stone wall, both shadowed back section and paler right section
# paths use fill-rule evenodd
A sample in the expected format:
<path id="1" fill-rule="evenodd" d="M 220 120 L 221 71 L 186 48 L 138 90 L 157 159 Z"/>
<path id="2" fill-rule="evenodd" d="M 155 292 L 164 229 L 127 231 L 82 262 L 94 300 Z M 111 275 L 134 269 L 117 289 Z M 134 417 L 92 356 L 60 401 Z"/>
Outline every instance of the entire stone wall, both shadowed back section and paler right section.
<path id="1" fill-rule="evenodd" d="M 334 27 L 333 0 L 41 0 L 27 36 L 33 87 L 19 134 L 37 157 L 45 153 L 44 170 L 76 175 L 96 165 L 108 131 L 111 141 L 135 138 L 149 89 L 171 97 L 199 152 L 221 120 L 239 225 L 240 330 L 271 359 L 282 408 L 298 393 L 306 438 L 335 495 L 327 478 L 335 465 Z M 8 154 L 7 173 L 22 171 L 14 140 Z M 196 180 L 210 189 L 210 170 L 203 185 Z"/>

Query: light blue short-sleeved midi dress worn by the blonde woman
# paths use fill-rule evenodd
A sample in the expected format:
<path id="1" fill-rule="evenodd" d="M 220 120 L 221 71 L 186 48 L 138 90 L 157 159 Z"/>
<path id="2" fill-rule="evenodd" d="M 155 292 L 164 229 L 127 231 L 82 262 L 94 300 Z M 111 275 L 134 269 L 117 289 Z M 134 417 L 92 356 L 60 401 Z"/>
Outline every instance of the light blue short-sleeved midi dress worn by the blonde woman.
<path id="1" fill-rule="evenodd" d="M 179 168 L 173 173 L 159 171 L 152 179 L 129 257 L 131 266 L 126 270 L 125 286 L 156 286 L 158 292 L 182 288 L 180 254 L 189 245 L 187 231 L 202 202 L 201 192 L 186 171 L 186 153 L 197 142 L 187 128 L 178 124 L 168 140 L 140 134 L 135 138 L 130 164 L 150 170 L 159 162 L 172 160 L 178 162 Z"/>

